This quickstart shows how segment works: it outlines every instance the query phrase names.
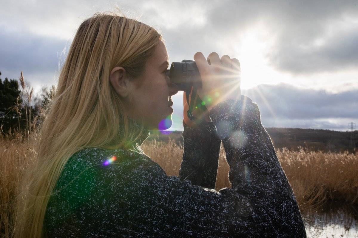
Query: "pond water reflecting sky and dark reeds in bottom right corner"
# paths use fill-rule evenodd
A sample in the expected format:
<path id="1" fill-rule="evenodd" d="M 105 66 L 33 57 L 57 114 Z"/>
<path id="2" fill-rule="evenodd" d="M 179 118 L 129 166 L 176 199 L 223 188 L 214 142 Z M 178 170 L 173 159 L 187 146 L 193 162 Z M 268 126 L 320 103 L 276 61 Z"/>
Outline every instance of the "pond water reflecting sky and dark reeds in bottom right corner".
<path id="1" fill-rule="evenodd" d="M 330 203 L 320 212 L 304 217 L 307 237 L 358 238 L 358 206 L 344 203 Z"/>

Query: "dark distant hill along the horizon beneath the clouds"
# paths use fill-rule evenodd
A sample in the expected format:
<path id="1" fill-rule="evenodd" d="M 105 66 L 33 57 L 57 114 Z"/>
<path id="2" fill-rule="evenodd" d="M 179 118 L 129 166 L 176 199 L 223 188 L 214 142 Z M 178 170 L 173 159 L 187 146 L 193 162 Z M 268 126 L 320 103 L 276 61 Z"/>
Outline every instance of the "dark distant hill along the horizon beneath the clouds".
<path id="1" fill-rule="evenodd" d="M 308 147 L 317 151 L 349 151 L 358 149 L 358 131 L 341 132 L 318 129 L 301 128 L 266 128 L 275 148 L 289 148 L 297 150 L 299 146 Z M 151 131 L 147 141 L 156 140 L 166 143 L 170 140 L 177 145 L 183 145 L 182 131 L 173 131 L 169 135 L 163 135 L 160 131 Z M 352 138 L 352 140 L 351 140 Z"/>

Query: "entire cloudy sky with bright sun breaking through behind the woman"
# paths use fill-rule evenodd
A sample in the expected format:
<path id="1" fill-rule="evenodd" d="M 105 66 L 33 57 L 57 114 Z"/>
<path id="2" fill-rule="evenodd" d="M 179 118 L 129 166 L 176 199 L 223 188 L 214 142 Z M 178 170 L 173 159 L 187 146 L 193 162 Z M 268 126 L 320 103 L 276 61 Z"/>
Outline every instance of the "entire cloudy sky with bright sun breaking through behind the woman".
<path id="1" fill-rule="evenodd" d="M 242 93 L 266 127 L 348 130 L 358 123 L 357 0 L 17 0 L 0 8 L 1 79 L 57 82 L 74 33 L 117 5 L 160 30 L 171 61 L 197 51 L 241 62 Z M 182 130 L 182 94 L 172 130 Z"/>

